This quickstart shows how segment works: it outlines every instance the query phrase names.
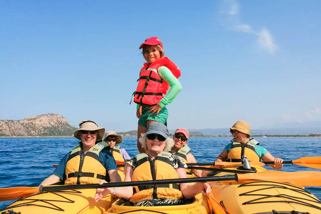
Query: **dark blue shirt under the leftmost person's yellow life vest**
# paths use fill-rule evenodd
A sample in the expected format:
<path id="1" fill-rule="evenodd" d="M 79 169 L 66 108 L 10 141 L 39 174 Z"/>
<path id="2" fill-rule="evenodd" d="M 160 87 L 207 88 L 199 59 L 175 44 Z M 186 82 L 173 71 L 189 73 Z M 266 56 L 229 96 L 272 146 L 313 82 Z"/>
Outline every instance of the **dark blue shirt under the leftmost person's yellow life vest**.
<path id="1" fill-rule="evenodd" d="M 58 176 L 61 180 L 63 180 L 63 175 L 65 174 L 66 164 L 67 160 L 70 156 L 70 152 L 68 152 L 59 162 L 57 168 L 52 173 L 52 175 Z M 82 155 L 84 156 L 85 153 L 82 152 Z M 108 151 L 107 148 L 103 149 L 99 153 L 99 162 L 106 168 L 106 176 L 108 176 L 108 171 L 115 169 L 117 170 L 116 162 L 112 154 Z"/>

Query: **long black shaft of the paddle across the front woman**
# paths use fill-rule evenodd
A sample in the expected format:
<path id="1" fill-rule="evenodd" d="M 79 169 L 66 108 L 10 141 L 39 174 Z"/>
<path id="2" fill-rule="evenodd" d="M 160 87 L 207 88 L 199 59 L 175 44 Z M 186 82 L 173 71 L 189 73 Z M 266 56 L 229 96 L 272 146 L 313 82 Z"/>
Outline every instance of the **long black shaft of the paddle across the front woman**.
<path id="1" fill-rule="evenodd" d="M 216 177 L 195 177 L 195 178 L 178 178 L 178 179 L 164 179 L 151 181 L 130 181 L 130 182 L 116 182 L 106 184 L 78 184 L 78 185 L 61 185 L 61 186 L 40 186 L 39 193 L 60 191 L 60 190 L 80 190 L 80 189 L 96 189 L 107 187 L 121 187 L 121 186 L 143 186 L 143 185 L 159 185 L 159 184 L 180 184 L 192 182 L 207 182 L 207 181 L 239 181 L 238 175 L 223 175 Z"/>

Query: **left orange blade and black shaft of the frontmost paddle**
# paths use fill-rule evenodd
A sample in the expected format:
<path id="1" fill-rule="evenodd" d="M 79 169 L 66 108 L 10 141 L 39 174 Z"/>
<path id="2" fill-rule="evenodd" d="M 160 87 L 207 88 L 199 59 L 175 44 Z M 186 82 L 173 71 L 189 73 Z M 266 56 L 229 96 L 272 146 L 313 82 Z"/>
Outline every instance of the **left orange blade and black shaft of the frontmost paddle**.
<path id="1" fill-rule="evenodd" d="M 177 183 L 192 183 L 192 182 L 207 182 L 207 181 L 238 181 L 237 174 L 223 175 L 213 177 L 195 177 L 195 178 L 178 178 L 165 180 L 151 181 L 131 181 L 131 182 L 116 182 L 107 184 L 81 184 L 81 185 L 58 185 L 58 186 L 40 186 L 40 187 L 11 187 L 0 189 L 0 201 L 9 201 L 28 196 L 32 193 L 43 193 L 49 191 L 61 190 L 78 190 L 78 189 L 95 189 L 120 186 L 143 186 L 143 185 L 158 185 L 158 184 L 177 184 Z"/>

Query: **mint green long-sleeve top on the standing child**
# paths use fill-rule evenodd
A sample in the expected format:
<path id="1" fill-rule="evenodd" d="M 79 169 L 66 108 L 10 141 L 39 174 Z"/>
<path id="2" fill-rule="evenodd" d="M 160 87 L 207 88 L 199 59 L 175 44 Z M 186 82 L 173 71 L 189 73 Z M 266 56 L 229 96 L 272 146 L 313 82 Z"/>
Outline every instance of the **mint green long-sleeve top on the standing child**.
<path id="1" fill-rule="evenodd" d="M 170 86 L 170 89 L 165 95 L 165 97 L 162 98 L 158 103 L 160 107 L 164 108 L 167 104 L 173 102 L 178 92 L 182 90 L 182 85 L 180 84 L 178 79 L 173 75 L 173 73 L 165 66 L 160 66 L 158 68 L 158 74 L 160 75 L 160 78 L 167 82 Z M 139 105 L 137 104 L 137 109 L 138 108 Z"/>

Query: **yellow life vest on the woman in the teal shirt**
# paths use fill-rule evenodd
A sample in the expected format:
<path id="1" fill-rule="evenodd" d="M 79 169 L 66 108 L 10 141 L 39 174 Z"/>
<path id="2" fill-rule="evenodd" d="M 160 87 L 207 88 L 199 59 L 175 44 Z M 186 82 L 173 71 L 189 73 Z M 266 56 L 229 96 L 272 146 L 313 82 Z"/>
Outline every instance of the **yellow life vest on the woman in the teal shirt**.
<path id="1" fill-rule="evenodd" d="M 235 139 L 231 140 L 232 149 L 227 155 L 230 162 L 241 162 L 243 155 L 246 155 L 248 161 L 260 161 L 260 157 L 256 154 L 255 146 L 260 143 L 254 139 L 248 141 L 245 145 L 243 143 L 236 142 Z"/>

